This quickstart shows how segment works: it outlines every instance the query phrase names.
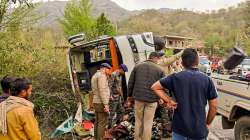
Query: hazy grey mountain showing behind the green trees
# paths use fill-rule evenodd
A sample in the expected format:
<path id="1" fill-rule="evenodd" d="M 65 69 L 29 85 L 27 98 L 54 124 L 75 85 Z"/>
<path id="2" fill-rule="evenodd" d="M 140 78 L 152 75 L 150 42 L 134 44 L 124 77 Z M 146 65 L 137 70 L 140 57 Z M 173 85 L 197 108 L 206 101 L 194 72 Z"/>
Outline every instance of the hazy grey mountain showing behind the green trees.
<path id="1" fill-rule="evenodd" d="M 63 18 L 64 7 L 67 1 L 48 1 L 39 3 L 36 12 L 44 16 L 40 20 L 42 26 L 50 26 L 58 23 L 58 19 Z M 92 13 L 97 17 L 104 12 L 113 22 L 118 22 L 137 15 L 140 11 L 128 11 L 121 8 L 110 0 L 92 0 Z"/>

